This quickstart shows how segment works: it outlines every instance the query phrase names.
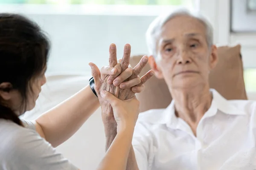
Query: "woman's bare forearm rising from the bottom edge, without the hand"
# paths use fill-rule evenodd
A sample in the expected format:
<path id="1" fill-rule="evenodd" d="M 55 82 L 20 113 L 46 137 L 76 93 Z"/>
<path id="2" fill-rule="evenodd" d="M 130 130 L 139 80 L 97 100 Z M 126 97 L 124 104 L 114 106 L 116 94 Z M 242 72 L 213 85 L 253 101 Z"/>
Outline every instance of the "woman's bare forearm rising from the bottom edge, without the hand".
<path id="1" fill-rule="evenodd" d="M 97 170 L 125 170 L 134 126 L 119 130 Z"/>

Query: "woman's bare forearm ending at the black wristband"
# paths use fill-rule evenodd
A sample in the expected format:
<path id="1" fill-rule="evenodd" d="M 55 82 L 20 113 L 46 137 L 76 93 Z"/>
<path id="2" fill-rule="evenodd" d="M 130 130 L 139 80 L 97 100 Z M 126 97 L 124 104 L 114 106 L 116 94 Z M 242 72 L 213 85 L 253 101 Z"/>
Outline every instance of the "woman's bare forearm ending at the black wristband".
<path id="1" fill-rule="evenodd" d="M 41 136 L 53 147 L 65 142 L 99 108 L 99 100 L 87 85 L 74 96 L 55 108 L 47 111 L 35 120 Z"/>

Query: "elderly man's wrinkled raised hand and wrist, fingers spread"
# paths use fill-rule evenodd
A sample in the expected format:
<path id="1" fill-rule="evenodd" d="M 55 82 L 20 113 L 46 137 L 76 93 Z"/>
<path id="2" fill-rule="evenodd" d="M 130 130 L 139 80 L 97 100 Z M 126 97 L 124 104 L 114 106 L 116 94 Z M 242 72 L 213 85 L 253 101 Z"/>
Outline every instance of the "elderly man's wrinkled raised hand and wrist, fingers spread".
<path id="1" fill-rule="evenodd" d="M 102 98 L 101 91 L 108 91 L 121 100 L 131 99 L 135 96 L 135 92 L 132 91 L 132 87 L 138 87 L 141 91 L 143 91 L 143 84 L 153 76 L 153 72 L 148 71 L 148 73 L 146 73 L 143 77 L 138 77 L 143 67 L 147 64 L 148 58 L 144 56 L 143 59 L 141 59 L 140 63 L 138 63 L 138 65 L 136 65 L 132 69 L 131 66 L 129 66 L 131 54 L 130 45 L 125 45 L 124 55 L 122 57 L 122 60 L 120 60 L 120 63 L 118 63 L 116 59 L 116 47 L 110 47 L 109 53 L 109 67 L 116 68 L 116 74 L 101 77 L 99 69 L 97 69 L 95 65 L 92 67 L 92 75 L 95 81 L 94 89 L 99 97 L 99 102 L 102 108 L 102 120 L 104 122 L 104 125 L 111 125 L 112 127 L 116 127 L 116 121 L 113 116 L 113 109 L 111 105 Z M 122 89 L 119 87 L 120 83 L 117 85 L 115 84 L 115 79 L 118 79 L 119 77 L 122 77 L 121 80 L 119 79 L 119 82 L 131 82 L 134 81 L 133 79 L 139 79 L 139 81 L 137 81 L 137 83 L 131 87 Z"/>

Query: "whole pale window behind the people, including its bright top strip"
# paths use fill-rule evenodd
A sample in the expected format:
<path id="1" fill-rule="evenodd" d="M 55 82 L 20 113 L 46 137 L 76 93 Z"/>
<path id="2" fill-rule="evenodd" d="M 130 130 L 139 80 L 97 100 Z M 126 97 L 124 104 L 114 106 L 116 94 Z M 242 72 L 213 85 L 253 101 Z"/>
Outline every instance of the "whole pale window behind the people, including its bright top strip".
<path id="1" fill-rule="evenodd" d="M 48 74 L 90 75 L 87 63 L 106 65 L 110 43 L 116 43 L 117 56 L 125 43 L 131 44 L 132 55 L 147 54 L 145 32 L 152 20 L 180 6 L 194 9 L 197 1 L 0 0 L 0 11 L 24 14 L 47 32 L 52 42 Z"/>

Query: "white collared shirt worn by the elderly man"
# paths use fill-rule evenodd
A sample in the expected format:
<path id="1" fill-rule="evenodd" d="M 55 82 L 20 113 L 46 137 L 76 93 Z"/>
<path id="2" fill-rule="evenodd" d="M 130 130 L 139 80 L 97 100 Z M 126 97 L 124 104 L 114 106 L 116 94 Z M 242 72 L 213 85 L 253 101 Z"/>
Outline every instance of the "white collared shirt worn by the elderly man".
<path id="1" fill-rule="evenodd" d="M 196 137 L 175 116 L 175 101 L 139 115 L 132 144 L 140 170 L 256 170 L 256 102 L 211 91 Z"/>

